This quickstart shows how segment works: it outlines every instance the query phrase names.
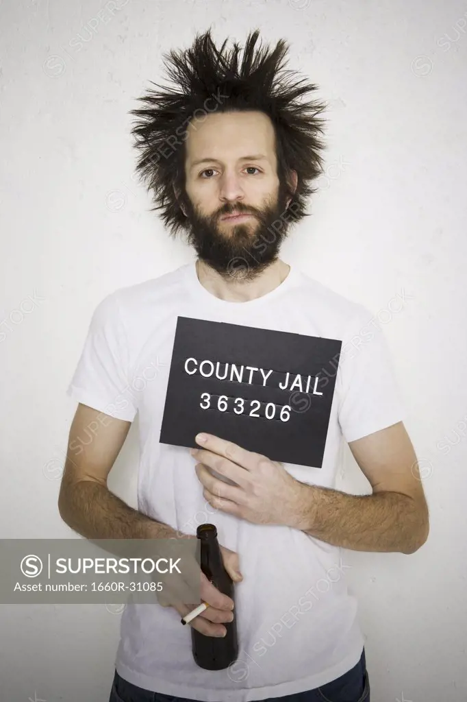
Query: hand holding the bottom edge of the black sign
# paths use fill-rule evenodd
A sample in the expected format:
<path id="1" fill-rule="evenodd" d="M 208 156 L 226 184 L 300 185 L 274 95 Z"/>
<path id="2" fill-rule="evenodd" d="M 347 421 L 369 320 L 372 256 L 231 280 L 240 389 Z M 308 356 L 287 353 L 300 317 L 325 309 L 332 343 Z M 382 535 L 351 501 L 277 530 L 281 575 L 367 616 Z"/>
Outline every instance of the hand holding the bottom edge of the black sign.
<path id="1" fill-rule="evenodd" d="M 197 440 L 203 449 L 191 449 L 190 453 L 199 461 L 196 475 L 208 503 L 253 524 L 293 526 L 297 513 L 306 505 L 306 485 L 295 480 L 282 463 L 219 437 L 205 436 L 206 442 Z M 217 479 L 209 468 L 235 485 Z"/>

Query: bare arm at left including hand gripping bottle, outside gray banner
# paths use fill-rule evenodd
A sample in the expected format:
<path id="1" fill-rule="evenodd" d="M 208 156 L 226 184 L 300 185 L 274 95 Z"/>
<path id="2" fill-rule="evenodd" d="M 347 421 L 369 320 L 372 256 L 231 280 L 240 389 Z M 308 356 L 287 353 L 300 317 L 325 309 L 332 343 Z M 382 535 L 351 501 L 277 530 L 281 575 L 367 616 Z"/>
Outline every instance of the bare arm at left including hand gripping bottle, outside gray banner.
<path id="1" fill-rule="evenodd" d="M 168 524 L 156 522 L 133 510 L 107 487 L 107 476 L 114 465 L 130 430 L 131 422 L 116 419 L 85 404 L 79 403 L 69 430 L 65 471 L 58 496 L 60 516 L 69 527 L 85 538 L 196 538 L 181 534 Z M 90 428 L 93 439 L 89 443 Z M 86 436 L 86 445 L 80 437 Z M 72 449 L 77 446 L 77 449 Z M 110 550 L 110 549 L 106 549 Z M 115 552 L 111 550 L 111 552 Z M 236 580 L 238 555 L 221 546 L 224 567 Z M 199 569 L 199 565 L 196 562 Z M 200 571 L 201 573 L 201 571 Z M 208 578 L 201 574 L 201 600 L 210 607 L 191 621 L 190 625 L 205 636 L 225 633 L 222 623 L 232 621 L 234 602 L 219 592 Z M 164 605 L 165 606 L 165 605 Z M 180 616 L 188 614 L 193 605 L 174 605 Z"/>

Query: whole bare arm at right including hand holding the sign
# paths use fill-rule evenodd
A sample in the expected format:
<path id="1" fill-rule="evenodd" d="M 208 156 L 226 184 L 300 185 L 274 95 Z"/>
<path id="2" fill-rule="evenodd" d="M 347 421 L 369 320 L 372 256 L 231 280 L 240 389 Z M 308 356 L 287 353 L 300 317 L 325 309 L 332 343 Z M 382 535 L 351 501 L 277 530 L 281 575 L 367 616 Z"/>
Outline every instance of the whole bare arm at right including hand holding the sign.
<path id="1" fill-rule="evenodd" d="M 253 524 L 283 524 L 358 551 L 414 553 L 428 537 L 428 507 L 417 456 L 399 421 L 348 442 L 372 486 L 348 495 L 300 482 L 284 466 L 219 437 L 191 449 L 203 496 L 212 507 Z M 214 470 L 225 477 L 212 475 Z"/>

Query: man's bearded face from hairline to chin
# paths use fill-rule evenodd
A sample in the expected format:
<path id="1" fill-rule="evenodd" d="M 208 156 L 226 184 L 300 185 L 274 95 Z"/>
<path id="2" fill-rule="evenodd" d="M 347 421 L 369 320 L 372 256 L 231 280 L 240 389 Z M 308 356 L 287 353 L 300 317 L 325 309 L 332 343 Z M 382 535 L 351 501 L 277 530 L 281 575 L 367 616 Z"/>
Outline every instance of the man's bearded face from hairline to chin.
<path id="1" fill-rule="evenodd" d="M 263 112 L 210 114 L 191 121 L 186 145 L 189 244 L 220 274 L 252 279 L 277 260 L 287 234 L 272 122 Z"/>

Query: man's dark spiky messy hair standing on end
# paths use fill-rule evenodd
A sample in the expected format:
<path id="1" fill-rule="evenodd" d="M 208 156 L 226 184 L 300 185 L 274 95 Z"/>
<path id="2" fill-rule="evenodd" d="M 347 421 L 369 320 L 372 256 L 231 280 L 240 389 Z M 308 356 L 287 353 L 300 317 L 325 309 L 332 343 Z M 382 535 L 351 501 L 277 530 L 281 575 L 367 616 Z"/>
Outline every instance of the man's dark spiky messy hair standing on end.
<path id="1" fill-rule="evenodd" d="M 317 86 L 306 84 L 304 79 L 287 81 L 285 74 L 292 71 L 283 71 L 288 51 L 283 39 L 270 51 L 259 48 L 255 52 L 259 37 L 259 30 L 255 29 L 248 35 L 239 66 L 238 44 L 225 52 L 224 41 L 218 50 L 210 32 L 208 29 L 205 34 L 197 34 L 193 46 L 186 51 L 164 54 L 175 88 L 153 83 L 162 92 L 149 89 L 138 98 L 144 109 L 130 112 L 138 118 L 131 129 L 135 147 L 140 151 L 136 173 L 147 184 L 147 190 L 153 191 L 156 206 L 151 211 L 161 210 L 171 236 L 187 226 L 180 204 L 186 197 L 184 143 L 191 119 L 211 112 L 255 110 L 264 112 L 273 123 L 277 175 L 292 197 L 286 214 L 290 221 L 298 222 L 308 216 L 305 200 L 316 192 L 312 183 L 323 170 L 320 154 L 324 145 L 319 135 L 323 134 L 324 120 L 318 115 L 325 110 L 325 103 L 299 102 L 298 98 L 316 91 Z M 297 171 L 295 192 L 289 189 L 290 171 Z"/>

